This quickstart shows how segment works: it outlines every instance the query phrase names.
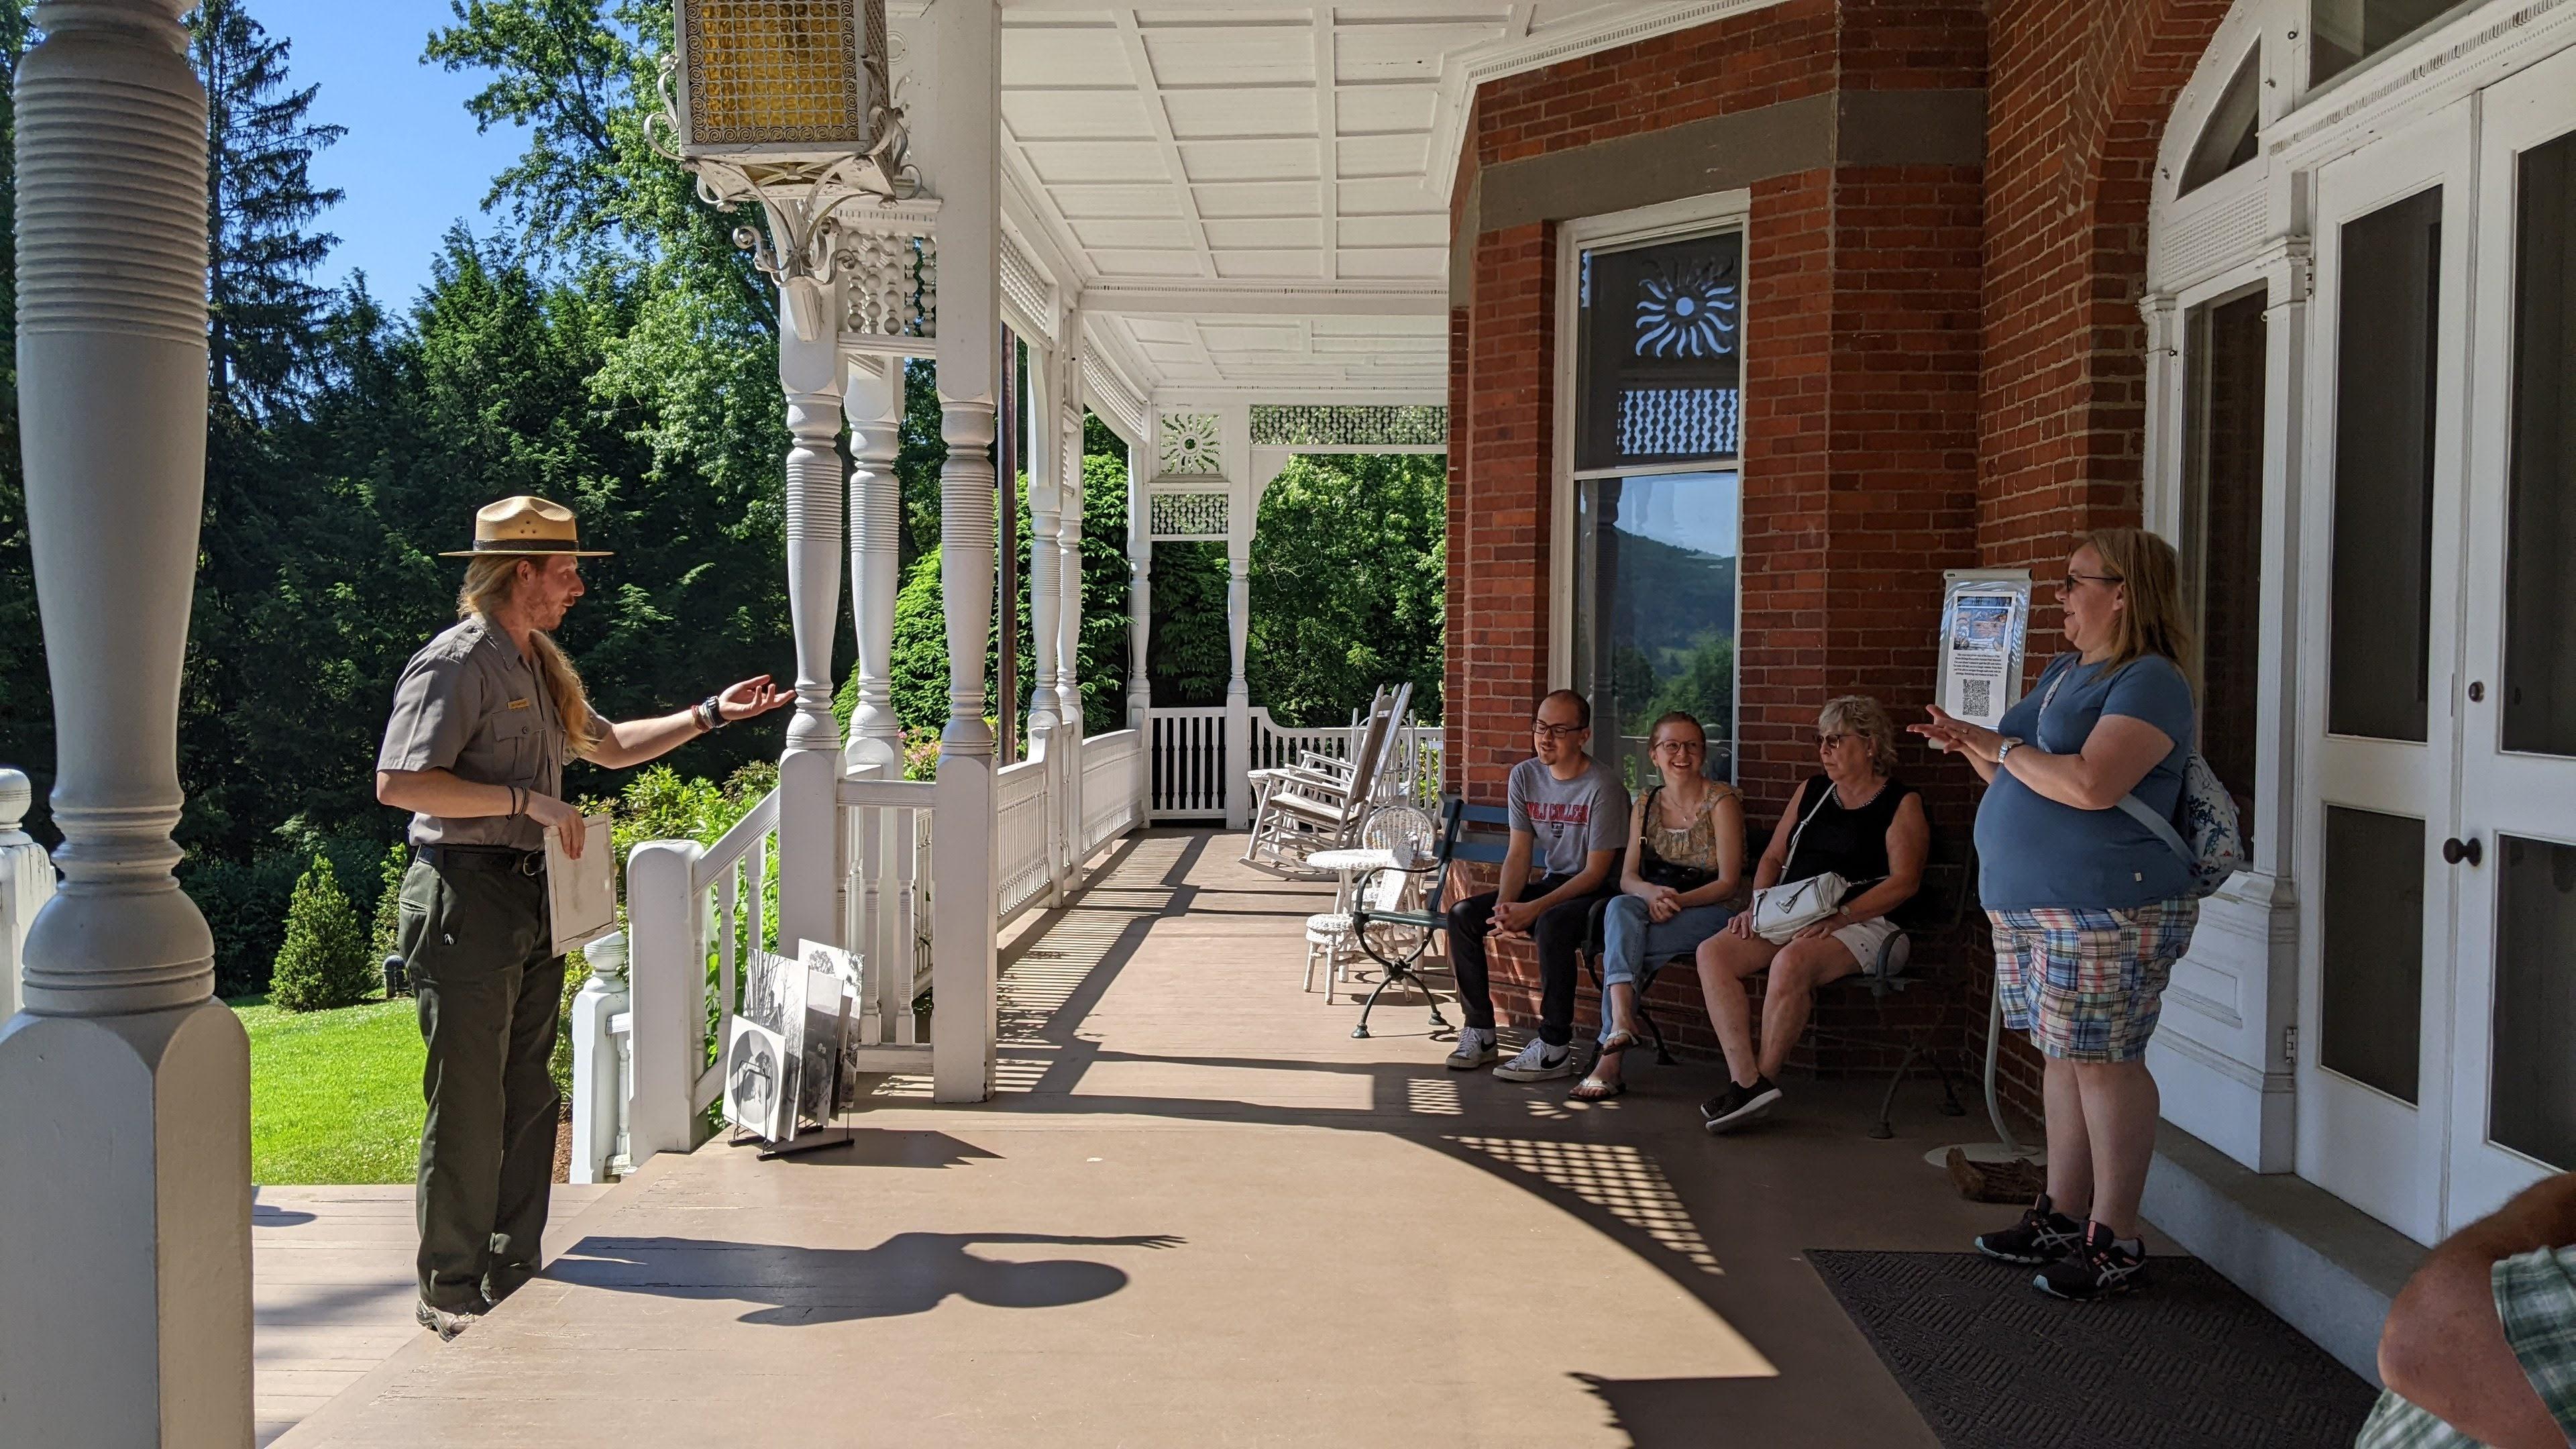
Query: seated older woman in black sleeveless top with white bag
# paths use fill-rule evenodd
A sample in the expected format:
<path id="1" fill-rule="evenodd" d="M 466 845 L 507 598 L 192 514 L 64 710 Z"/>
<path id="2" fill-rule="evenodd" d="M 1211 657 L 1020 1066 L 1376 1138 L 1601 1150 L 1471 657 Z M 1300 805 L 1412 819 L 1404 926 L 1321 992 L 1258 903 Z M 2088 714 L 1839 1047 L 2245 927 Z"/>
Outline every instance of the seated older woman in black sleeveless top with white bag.
<path id="1" fill-rule="evenodd" d="M 1842 908 L 1798 931 L 1790 941 L 1754 933 L 1752 913 L 1736 915 L 1700 944 L 1700 993 L 1726 1047 L 1726 1091 L 1700 1106 L 1710 1132 L 1731 1132 L 1780 1101 L 1772 1078 L 1788 1062 L 1816 987 L 1878 967 L 1878 951 L 1896 933 L 1888 913 L 1914 900 L 1932 851 L 1932 820 L 1922 794 L 1896 779 L 1896 724 L 1865 694 L 1829 699 L 1816 714 L 1816 761 L 1772 830 L 1754 890 L 1839 874 L 1850 882 Z M 1770 969 L 1762 990 L 1762 1039 L 1754 1042 L 1744 977 Z"/>

